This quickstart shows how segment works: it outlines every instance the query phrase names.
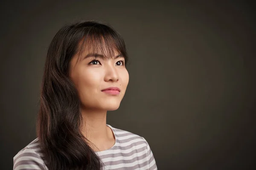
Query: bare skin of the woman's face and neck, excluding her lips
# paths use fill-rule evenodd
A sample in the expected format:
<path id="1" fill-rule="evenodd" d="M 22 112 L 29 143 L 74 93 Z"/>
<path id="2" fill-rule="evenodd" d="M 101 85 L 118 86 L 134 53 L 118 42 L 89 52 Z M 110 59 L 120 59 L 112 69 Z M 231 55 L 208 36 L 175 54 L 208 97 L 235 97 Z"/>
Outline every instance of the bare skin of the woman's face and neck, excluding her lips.
<path id="1" fill-rule="evenodd" d="M 79 92 L 83 116 L 82 134 L 92 142 L 94 150 L 102 151 L 115 144 L 112 130 L 106 125 L 107 111 L 119 108 L 129 82 L 124 57 L 115 52 L 111 59 L 87 56 L 91 51 L 84 50 L 81 59 L 75 55 L 70 61 L 69 76 Z M 103 55 L 103 54 L 101 54 Z M 104 55 L 103 55 L 104 56 Z M 109 87 L 118 87 L 118 95 L 102 92 Z"/>

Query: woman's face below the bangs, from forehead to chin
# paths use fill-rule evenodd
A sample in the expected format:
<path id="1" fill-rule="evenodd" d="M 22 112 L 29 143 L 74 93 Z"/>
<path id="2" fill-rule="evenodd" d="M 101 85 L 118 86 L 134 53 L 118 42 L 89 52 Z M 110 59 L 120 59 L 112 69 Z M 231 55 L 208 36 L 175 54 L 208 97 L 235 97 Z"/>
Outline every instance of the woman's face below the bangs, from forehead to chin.
<path id="1" fill-rule="evenodd" d="M 95 59 L 90 54 L 90 51 L 85 50 L 79 61 L 78 56 L 70 61 L 69 76 L 79 92 L 82 107 L 90 110 L 116 110 L 129 82 L 125 59 L 117 52 L 112 59 L 102 54 Z M 119 89 L 104 91 L 107 88 Z"/>

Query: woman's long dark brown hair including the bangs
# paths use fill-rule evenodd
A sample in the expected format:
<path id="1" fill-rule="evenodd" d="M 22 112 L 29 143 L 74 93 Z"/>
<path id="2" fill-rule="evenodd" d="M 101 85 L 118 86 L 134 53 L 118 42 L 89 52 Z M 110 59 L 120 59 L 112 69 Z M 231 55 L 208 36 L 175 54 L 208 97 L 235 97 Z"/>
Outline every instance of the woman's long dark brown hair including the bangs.
<path id="1" fill-rule="evenodd" d="M 41 84 L 37 136 L 49 170 L 100 170 L 102 161 L 81 134 L 78 92 L 69 77 L 70 60 L 85 48 L 106 57 L 125 57 L 122 37 L 107 24 L 86 21 L 63 26 L 49 45 Z"/>

